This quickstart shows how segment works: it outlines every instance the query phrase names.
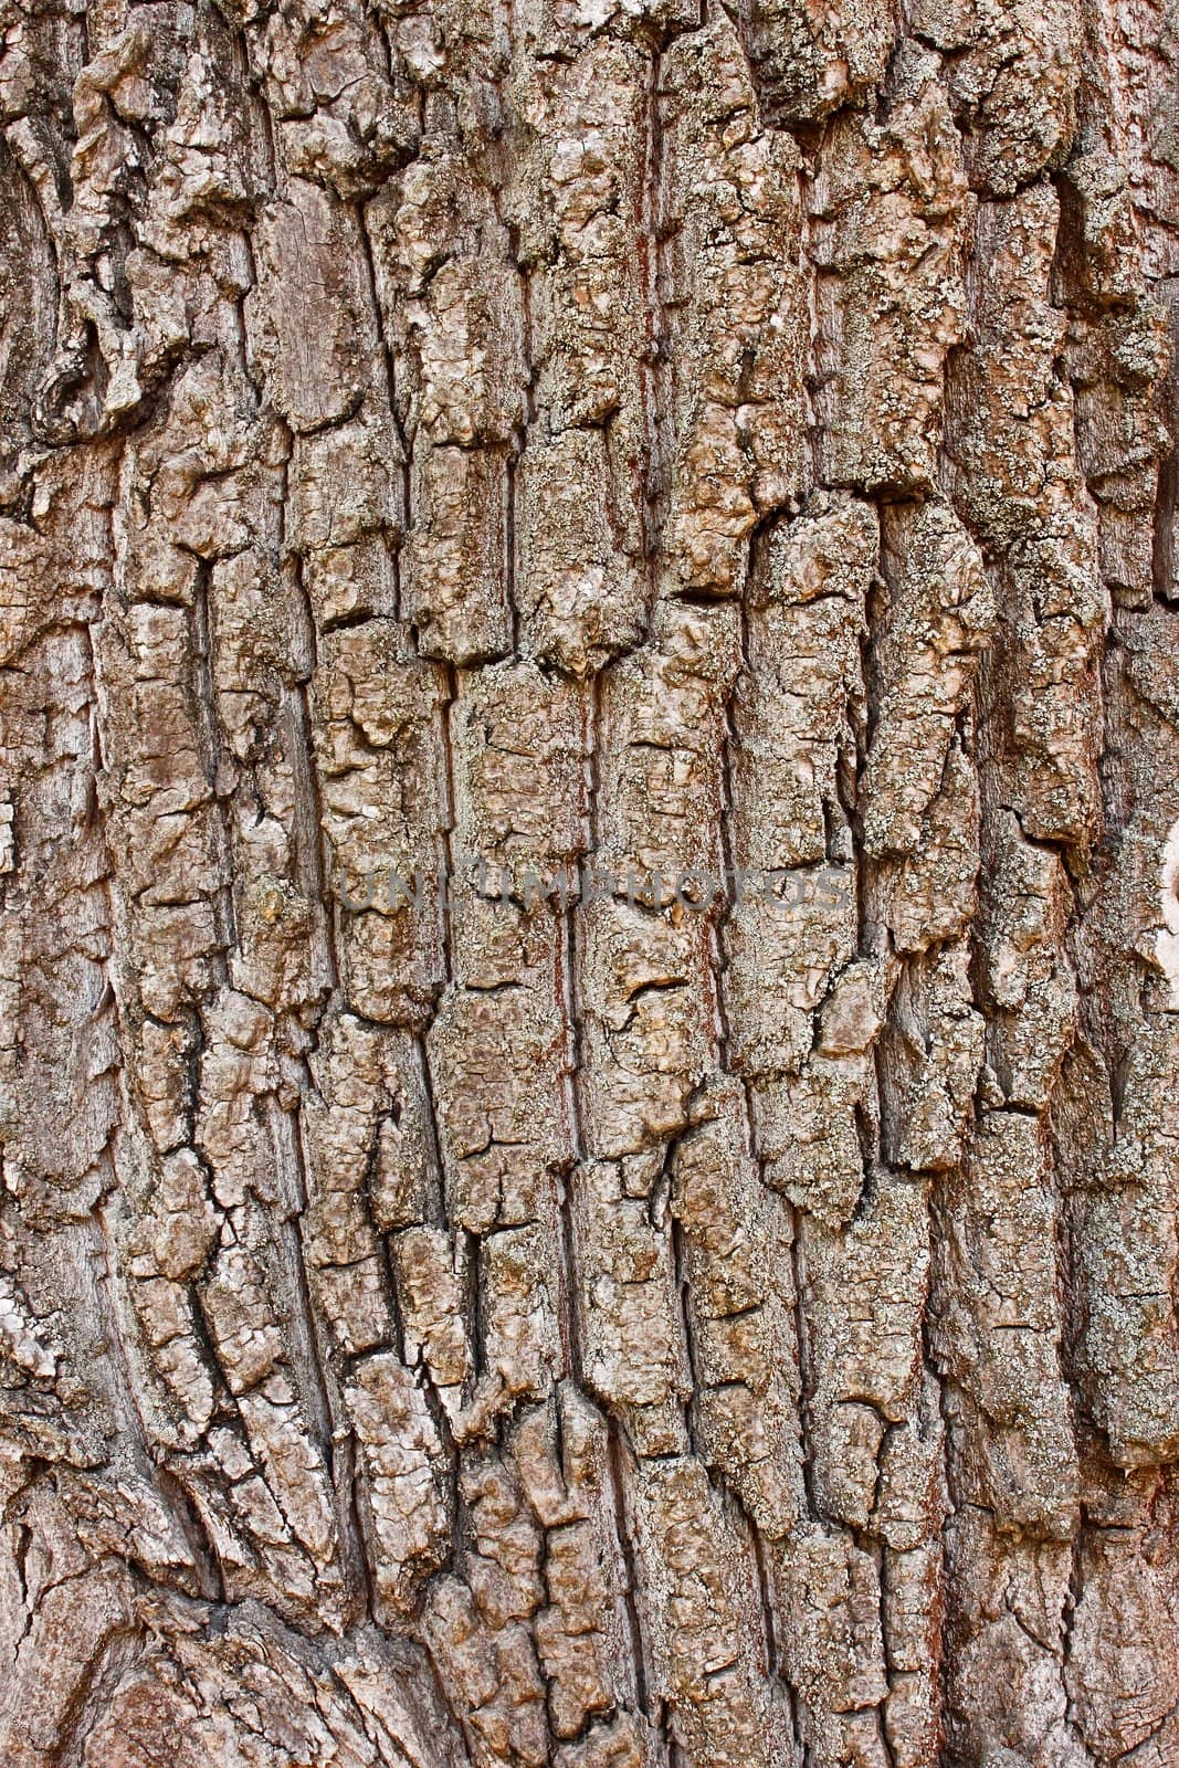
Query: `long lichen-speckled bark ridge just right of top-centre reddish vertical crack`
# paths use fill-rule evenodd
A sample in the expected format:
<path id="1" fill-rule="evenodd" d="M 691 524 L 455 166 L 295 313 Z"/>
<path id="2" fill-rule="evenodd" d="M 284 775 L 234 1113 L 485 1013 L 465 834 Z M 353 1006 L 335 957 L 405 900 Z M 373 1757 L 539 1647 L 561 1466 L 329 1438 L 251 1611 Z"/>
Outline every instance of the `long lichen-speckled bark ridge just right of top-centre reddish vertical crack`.
<path id="1" fill-rule="evenodd" d="M 802 484 L 799 156 L 788 134 L 758 127 L 726 18 L 681 37 L 661 78 L 673 193 L 659 217 L 675 437 L 665 541 L 684 589 L 726 596 L 755 522 Z"/>

